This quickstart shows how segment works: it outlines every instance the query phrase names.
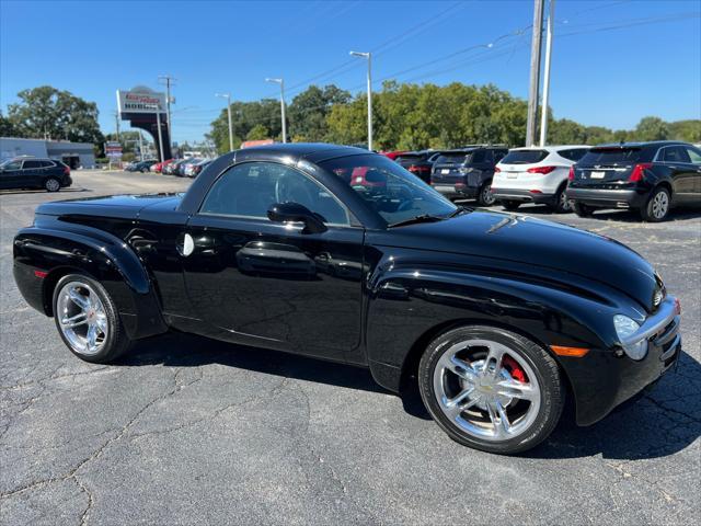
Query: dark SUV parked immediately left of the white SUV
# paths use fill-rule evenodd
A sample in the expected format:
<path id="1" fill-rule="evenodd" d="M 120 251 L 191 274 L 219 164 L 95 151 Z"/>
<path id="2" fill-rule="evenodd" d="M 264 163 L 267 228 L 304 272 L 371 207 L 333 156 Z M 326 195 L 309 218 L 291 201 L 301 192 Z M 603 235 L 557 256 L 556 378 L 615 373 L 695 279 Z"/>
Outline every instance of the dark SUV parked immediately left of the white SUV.
<path id="1" fill-rule="evenodd" d="M 482 206 L 493 205 L 494 167 L 506 153 L 506 146 L 471 146 L 444 151 L 434 162 L 430 184 L 449 198 L 476 198 Z"/>

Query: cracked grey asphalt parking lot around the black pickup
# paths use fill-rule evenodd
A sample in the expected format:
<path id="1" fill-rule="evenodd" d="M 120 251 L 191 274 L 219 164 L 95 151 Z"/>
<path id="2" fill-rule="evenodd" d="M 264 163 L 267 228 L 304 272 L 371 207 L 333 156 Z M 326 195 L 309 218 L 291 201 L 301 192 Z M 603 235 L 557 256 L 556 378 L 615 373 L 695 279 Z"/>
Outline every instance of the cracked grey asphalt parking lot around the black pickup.
<path id="1" fill-rule="evenodd" d="M 74 172 L 58 194 L 0 193 L 3 524 L 689 524 L 701 502 L 701 214 L 533 214 L 619 240 L 681 299 L 685 353 L 651 393 L 520 457 L 459 446 L 369 373 L 187 335 L 90 365 L 12 278 L 36 205 L 184 190 Z"/>

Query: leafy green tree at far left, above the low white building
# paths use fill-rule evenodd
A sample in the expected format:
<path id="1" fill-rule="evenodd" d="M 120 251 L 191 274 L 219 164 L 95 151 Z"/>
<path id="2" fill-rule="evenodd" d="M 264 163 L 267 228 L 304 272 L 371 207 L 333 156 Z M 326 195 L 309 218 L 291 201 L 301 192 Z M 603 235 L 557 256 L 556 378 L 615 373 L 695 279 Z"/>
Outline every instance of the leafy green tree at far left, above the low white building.
<path id="1" fill-rule="evenodd" d="M 22 90 L 18 96 L 21 102 L 8 106 L 8 119 L 19 136 L 94 142 L 95 146 L 103 141 L 94 102 L 50 85 Z"/>

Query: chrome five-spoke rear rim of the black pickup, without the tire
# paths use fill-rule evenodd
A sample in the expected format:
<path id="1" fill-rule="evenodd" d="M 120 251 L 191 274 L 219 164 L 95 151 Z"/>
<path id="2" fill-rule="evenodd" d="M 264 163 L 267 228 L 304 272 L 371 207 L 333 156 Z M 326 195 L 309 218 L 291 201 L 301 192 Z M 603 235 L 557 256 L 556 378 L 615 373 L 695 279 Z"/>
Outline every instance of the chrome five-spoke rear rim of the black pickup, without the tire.
<path id="1" fill-rule="evenodd" d="M 55 312 L 58 327 L 72 350 L 85 356 L 97 354 L 110 334 L 105 307 L 88 284 L 69 282 L 61 287 Z"/>

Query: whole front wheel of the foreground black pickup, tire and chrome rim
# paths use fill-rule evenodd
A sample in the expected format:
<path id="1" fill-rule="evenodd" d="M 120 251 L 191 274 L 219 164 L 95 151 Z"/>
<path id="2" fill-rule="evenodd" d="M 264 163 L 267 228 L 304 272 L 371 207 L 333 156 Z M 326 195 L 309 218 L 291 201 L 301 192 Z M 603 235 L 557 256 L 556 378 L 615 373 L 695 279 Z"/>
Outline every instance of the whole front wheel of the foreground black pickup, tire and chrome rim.
<path id="1" fill-rule="evenodd" d="M 490 355 L 501 356 L 494 362 L 498 374 L 491 367 L 485 373 Z M 418 388 L 428 412 L 450 438 L 501 455 L 544 441 L 565 401 L 558 364 L 544 348 L 486 325 L 462 327 L 436 338 L 421 358 Z"/>

